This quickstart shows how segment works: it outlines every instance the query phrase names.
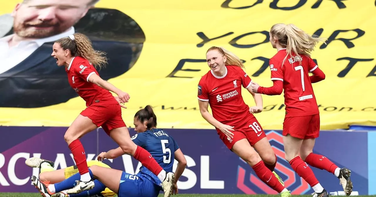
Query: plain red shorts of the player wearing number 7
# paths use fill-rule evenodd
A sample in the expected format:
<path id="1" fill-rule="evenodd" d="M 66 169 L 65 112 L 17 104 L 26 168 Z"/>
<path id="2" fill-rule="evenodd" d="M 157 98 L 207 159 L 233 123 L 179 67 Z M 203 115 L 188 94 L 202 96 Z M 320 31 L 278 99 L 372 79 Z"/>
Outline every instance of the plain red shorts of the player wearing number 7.
<path id="1" fill-rule="evenodd" d="M 282 135 L 290 134 L 300 139 L 318 138 L 320 133 L 320 114 L 285 117 Z"/>

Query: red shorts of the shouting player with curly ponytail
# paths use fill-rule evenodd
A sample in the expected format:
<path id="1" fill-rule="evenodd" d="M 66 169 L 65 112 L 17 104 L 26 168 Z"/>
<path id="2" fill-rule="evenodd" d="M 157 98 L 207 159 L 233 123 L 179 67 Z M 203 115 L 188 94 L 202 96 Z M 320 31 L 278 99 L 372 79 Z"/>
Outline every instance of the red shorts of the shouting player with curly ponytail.
<path id="1" fill-rule="evenodd" d="M 98 127 L 102 126 L 107 135 L 112 129 L 126 126 L 121 118 L 121 107 L 119 104 L 111 105 L 90 105 L 80 113 L 92 120 Z"/>

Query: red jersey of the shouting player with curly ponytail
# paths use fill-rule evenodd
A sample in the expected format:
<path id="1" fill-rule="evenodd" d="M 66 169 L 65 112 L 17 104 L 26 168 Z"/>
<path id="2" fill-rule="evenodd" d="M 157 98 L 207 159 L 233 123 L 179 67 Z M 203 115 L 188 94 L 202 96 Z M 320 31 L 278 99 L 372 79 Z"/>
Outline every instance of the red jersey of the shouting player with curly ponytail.
<path id="1" fill-rule="evenodd" d="M 99 75 L 88 60 L 78 56 L 74 57 L 65 71 L 68 74 L 70 86 L 86 101 L 86 106 L 118 104 L 108 90 L 88 81 L 92 74 Z"/>

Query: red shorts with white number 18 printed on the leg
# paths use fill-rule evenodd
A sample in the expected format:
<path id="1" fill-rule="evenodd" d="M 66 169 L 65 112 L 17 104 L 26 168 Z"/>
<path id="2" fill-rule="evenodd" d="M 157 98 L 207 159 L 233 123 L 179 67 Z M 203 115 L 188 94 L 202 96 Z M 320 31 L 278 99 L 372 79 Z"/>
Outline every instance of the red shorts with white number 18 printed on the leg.
<path id="1" fill-rule="evenodd" d="M 232 125 L 231 125 L 232 126 Z M 234 134 L 232 139 L 227 138 L 227 136 L 217 129 L 219 138 L 223 141 L 224 144 L 226 144 L 228 149 L 232 149 L 232 146 L 239 140 L 247 138 L 249 144 L 253 146 L 261 140 L 262 138 L 266 137 L 264 130 L 260 126 L 260 123 L 256 120 L 256 118 L 252 118 L 247 121 L 246 124 L 243 126 L 237 128 L 234 127 L 234 130 L 232 133 Z"/>

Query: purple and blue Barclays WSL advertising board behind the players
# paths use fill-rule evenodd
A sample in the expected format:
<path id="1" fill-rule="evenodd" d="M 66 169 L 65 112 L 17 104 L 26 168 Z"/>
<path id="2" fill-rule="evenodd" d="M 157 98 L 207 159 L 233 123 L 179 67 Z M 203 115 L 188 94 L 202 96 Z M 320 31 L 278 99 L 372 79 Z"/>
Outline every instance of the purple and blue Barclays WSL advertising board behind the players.
<path id="1" fill-rule="evenodd" d="M 38 168 L 24 164 L 26 158 L 41 157 L 55 162 L 60 169 L 74 165 L 73 156 L 63 136 L 66 127 L 0 126 L 0 192 L 36 192 L 30 176 Z M 214 129 L 165 129 L 179 144 L 187 159 L 187 167 L 178 182 L 181 193 L 200 194 L 276 194 L 255 175 L 252 168 L 224 146 Z M 135 134 L 130 129 L 131 134 Z M 276 172 L 284 179 L 292 194 L 310 194 L 311 187 L 291 169 L 284 159 L 281 131 L 265 130 L 278 157 Z M 81 139 L 87 159 L 117 147 L 102 128 Z M 339 167 L 352 170 L 352 195 L 376 194 L 376 132 L 321 131 L 315 153 L 331 159 Z M 138 173 L 141 164 L 129 155 L 106 159 L 112 168 Z M 174 170 L 176 162 L 174 163 Z M 344 195 L 338 179 L 326 171 L 312 168 L 321 185 L 331 195 Z"/>

